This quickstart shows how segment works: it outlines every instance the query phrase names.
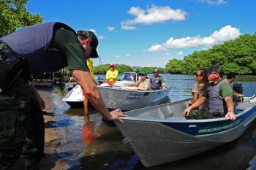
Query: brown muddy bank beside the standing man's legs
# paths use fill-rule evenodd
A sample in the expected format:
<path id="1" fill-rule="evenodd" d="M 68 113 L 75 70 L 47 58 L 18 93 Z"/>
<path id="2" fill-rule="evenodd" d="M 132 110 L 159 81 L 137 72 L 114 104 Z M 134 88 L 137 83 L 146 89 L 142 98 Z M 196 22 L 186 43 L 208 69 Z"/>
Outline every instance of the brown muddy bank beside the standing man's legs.
<path id="1" fill-rule="evenodd" d="M 45 119 L 45 157 L 40 162 L 40 170 L 64 170 L 69 169 L 69 166 L 64 163 L 58 155 L 58 147 L 61 143 L 60 130 L 54 125 L 54 114 L 56 112 L 52 95 L 56 93 L 53 89 L 39 89 L 39 93 L 45 100 L 46 109 L 44 110 Z M 11 170 L 24 169 L 24 160 L 20 158 Z"/>

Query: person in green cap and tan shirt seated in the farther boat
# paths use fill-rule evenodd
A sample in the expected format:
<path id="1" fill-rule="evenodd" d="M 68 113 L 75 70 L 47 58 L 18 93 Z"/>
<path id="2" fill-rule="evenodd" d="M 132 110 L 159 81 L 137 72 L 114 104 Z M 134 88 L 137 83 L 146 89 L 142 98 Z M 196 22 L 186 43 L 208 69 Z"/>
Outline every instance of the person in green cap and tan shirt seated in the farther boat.
<path id="1" fill-rule="evenodd" d="M 147 74 L 148 73 L 146 71 L 140 72 L 140 80 L 127 86 L 138 87 L 137 90 L 151 90 L 151 82 L 147 78 Z"/>

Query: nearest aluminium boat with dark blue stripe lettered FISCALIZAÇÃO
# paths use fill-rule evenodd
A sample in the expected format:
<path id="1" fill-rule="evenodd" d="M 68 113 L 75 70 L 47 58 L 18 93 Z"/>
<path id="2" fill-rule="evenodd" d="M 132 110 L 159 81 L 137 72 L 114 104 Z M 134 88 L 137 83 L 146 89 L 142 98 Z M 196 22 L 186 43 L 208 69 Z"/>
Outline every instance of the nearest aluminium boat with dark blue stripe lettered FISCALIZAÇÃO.
<path id="1" fill-rule="evenodd" d="M 256 117 L 255 96 L 237 103 L 236 120 L 226 117 L 186 120 L 188 100 L 126 112 L 115 121 L 144 166 L 177 161 L 237 139 Z"/>

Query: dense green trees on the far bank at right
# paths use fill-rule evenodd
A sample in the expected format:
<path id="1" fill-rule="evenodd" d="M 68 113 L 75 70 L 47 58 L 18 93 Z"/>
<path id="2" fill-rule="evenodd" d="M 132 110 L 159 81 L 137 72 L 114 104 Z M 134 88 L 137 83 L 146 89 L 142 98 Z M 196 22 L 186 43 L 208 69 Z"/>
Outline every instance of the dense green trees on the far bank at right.
<path id="1" fill-rule="evenodd" d="M 195 74 L 197 69 L 217 63 L 224 67 L 225 74 L 256 74 L 256 35 L 244 34 L 209 50 L 195 51 L 184 60 L 170 60 L 165 70 L 175 74 Z"/>

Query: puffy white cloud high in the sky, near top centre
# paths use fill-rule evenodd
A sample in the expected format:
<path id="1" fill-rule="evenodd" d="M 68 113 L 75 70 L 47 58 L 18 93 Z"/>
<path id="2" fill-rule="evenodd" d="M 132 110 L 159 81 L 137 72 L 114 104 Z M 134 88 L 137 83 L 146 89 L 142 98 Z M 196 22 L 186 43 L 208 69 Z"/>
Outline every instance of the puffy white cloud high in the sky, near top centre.
<path id="1" fill-rule="evenodd" d="M 170 7 L 159 7 L 152 5 L 151 8 L 146 10 L 140 7 L 131 7 L 128 14 L 134 15 L 133 20 L 124 20 L 121 22 L 121 28 L 123 29 L 136 29 L 135 24 L 153 24 L 153 23 L 165 23 L 168 20 L 179 21 L 185 20 L 185 12 L 182 9 L 171 9 Z"/>

